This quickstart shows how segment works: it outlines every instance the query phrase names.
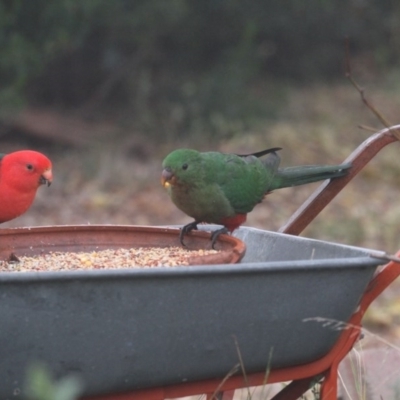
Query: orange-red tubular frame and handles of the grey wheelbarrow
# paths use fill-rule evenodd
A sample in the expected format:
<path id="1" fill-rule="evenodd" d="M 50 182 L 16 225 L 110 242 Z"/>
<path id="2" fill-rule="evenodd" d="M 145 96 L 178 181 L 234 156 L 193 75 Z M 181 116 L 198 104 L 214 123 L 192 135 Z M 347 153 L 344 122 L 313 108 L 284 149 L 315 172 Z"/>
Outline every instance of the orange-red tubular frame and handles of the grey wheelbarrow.
<path id="1" fill-rule="evenodd" d="M 325 206 L 353 179 L 355 175 L 386 145 L 398 139 L 399 126 L 384 129 L 365 140 L 346 160 L 351 162 L 349 173 L 341 178 L 325 181 L 290 217 L 279 232 L 299 235 Z M 400 251 L 397 253 L 400 257 Z M 343 324 L 337 342 L 322 358 L 305 365 L 274 369 L 266 374 L 255 373 L 247 376 L 230 376 L 201 382 L 184 383 L 173 386 L 136 390 L 124 394 L 86 397 L 85 400 L 164 400 L 196 394 L 206 394 L 207 400 L 231 400 L 236 389 L 260 386 L 276 382 L 291 381 L 273 400 L 296 400 L 313 384 L 322 380 L 320 398 L 337 399 L 337 378 L 339 363 L 351 351 L 360 336 L 361 320 L 371 302 L 379 296 L 400 275 L 400 262 L 390 261 L 369 283 L 358 309 L 349 321 Z"/>

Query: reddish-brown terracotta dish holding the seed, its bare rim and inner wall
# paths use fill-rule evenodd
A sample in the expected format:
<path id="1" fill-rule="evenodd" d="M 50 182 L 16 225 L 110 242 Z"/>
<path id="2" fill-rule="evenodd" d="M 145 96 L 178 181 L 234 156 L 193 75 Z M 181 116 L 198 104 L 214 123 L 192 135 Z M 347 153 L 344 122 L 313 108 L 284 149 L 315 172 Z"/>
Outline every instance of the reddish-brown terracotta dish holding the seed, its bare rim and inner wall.
<path id="1" fill-rule="evenodd" d="M 0 229 L 0 260 L 10 254 L 31 256 L 50 251 L 93 251 L 110 248 L 180 246 L 179 229 L 129 225 L 70 225 Z M 188 249 L 211 247 L 210 233 L 194 231 L 185 237 Z M 191 265 L 238 262 L 245 244 L 233 236 L 220 235 L 216 254 L 191 257 Z"/>

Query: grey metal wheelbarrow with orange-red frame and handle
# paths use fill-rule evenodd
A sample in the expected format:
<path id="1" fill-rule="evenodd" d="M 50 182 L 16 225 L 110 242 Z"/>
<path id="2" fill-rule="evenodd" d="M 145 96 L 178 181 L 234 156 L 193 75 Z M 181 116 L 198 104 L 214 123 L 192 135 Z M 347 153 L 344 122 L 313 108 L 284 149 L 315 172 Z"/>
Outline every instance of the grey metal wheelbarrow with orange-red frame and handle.
<path id="1" fill-rule="evenodd" d="M 323 183 L 280 232 L 240 228 L 239 264 L 0 274 L 0 398 L 19 397 L 22 368 L 39 358 L 81 375 L 86 400 L 232 399 L 286 381 L 274 399 L 294 400 L 321 380 L 321 398 L 336 399 L 338 365 L 400 263 L 376 272 L 382 252 L 297 235 L 397 140 L 394 128 L 364 142 L 350 173 Z"/>

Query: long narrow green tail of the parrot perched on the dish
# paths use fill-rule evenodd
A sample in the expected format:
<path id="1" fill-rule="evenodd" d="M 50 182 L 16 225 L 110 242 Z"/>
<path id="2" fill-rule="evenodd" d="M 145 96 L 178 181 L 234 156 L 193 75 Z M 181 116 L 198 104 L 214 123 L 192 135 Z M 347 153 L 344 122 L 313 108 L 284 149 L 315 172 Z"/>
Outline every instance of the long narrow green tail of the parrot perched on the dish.
<path id="1" fill-rule="evenodd" d="M 276 172 L 270 191 L 290 186 L 338 178 L 346 175 L 351 164 L 341 165 L 304 165 L 300 167 L 280 168 Z"/>

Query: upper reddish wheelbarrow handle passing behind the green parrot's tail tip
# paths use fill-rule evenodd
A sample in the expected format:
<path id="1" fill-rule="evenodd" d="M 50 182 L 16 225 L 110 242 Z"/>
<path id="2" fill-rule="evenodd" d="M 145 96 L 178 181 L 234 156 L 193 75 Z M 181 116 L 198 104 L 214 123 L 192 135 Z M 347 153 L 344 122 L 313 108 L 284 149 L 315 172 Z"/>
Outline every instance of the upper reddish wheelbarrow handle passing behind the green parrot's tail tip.
<path id="1" fill-rule="evenodd" d="M 344 161 L 350 162 L 349 172 L 335 179 L 324 181 L 311 196 L 293 213 L 288 222 L 278 232 L 299 235 L 329 202 L 365 167 L 366 164 L 386 145 L 398 141 L 400 125 L 383 129 L 371 135 L 360 144 Z"/>

